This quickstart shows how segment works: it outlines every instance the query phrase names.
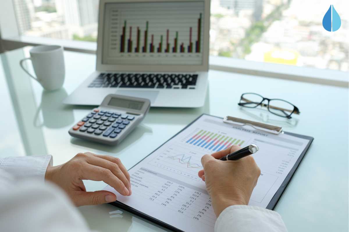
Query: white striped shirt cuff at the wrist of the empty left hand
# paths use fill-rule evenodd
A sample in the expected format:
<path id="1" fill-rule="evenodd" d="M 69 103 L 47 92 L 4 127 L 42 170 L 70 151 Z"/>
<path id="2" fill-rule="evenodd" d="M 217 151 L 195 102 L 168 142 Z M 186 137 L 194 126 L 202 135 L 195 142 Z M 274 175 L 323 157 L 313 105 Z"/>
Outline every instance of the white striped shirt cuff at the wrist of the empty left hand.
<path id="1" fill-rule="evenodd" d="M 48 165 L 52 166 L 52 155 L 7 157 L 0 163 L 0 168 L 16 179 L 35 178 L 44 181 Z"/>

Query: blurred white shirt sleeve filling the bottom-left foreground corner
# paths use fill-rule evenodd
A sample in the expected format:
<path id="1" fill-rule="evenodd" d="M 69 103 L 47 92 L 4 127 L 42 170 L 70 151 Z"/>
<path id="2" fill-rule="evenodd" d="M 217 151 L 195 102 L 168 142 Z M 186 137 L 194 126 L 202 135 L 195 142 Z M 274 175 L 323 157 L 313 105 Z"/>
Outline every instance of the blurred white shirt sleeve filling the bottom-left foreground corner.
<path id="1" fill-rule="evenodd" d="M 66 194 L 37 179 L 16 182 L 0 169 L 1 231 L 90 231 Z"/>

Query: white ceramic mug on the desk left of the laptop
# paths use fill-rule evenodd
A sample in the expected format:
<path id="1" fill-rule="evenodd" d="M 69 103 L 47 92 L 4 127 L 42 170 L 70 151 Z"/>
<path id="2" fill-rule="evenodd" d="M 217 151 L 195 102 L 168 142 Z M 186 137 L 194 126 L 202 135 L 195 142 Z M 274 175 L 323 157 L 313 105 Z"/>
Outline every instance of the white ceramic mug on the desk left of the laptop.
<path id="1" fill-rule="evenodd" d="M 32 48 L 29 53 L 30 58 L 20 61 L 22 69 L 46 90 L 61 88 L 65 77 L 63 48 L 57 45 L 40 45 Z M 27 59 L 33 64 L 36 77 L 23 67 L 23 62 Z"/>

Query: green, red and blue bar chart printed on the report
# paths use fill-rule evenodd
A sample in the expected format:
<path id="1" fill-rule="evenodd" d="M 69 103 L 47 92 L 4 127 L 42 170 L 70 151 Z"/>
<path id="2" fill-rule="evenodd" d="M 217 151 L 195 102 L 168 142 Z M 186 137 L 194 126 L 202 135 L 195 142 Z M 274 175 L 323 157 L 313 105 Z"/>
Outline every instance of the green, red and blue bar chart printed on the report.
<path id="1" fill-rule="evenodd" d="M 209 130 L 199 130 L 195 135 L 186 141 L 188 144 L 203 147 L 212 151 L 220 151 L 231 145 L 243 145 L 244 140 L 233 138 L 224 134 L 214 133 Z"/>

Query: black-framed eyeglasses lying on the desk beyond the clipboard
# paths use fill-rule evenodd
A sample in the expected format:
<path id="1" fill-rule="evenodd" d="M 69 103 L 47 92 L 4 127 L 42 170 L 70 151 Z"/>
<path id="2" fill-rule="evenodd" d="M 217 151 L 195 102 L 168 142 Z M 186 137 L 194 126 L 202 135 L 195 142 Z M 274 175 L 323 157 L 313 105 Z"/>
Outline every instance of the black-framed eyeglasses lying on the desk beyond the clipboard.
<path id="1" fill-rule="evenodd" d="M 265 100 L 268 101 L 268 104 L 263 103 L 263 101 Z M 298 108 L 295 105 L 285 100 L 269 99 L 255 93 L 242 94 L 238 105 L 248 108 L 255 108 L 260 105 L 262 107 L 267 107 L 270 113 L 284 118 L 292 118 L 291 114 L 293 113 L 300 114 Z"/>

